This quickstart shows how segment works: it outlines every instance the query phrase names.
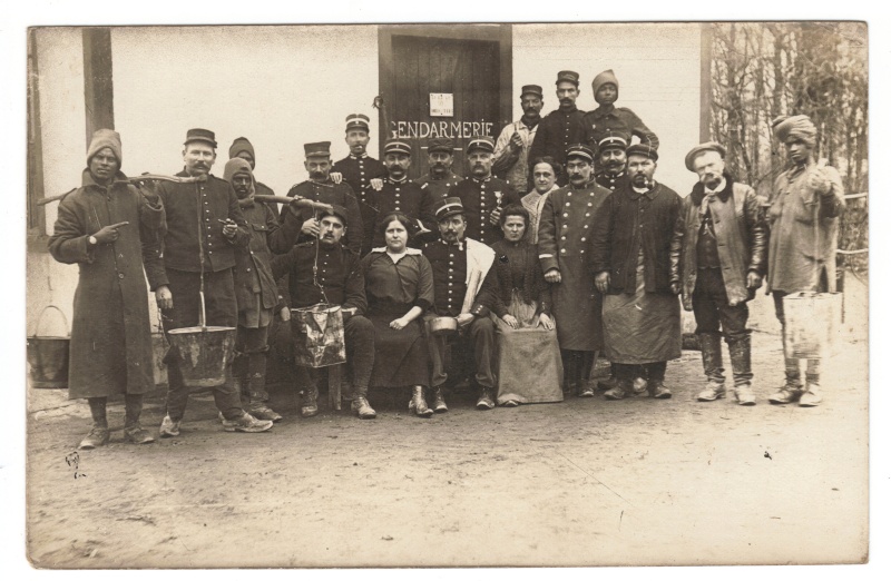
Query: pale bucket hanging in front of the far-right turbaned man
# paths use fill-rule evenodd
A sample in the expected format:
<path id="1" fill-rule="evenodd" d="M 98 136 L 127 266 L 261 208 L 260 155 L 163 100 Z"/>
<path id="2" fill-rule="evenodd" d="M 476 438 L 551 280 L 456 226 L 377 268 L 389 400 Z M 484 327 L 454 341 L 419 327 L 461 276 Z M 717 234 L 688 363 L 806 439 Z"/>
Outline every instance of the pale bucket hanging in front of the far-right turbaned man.
<path id="1" fill-rule="evenodd" d="M 841 293 L 791 293 L 783 297 L 786 357 L 814 360 L 832 353 L 841 328 Z"/>

